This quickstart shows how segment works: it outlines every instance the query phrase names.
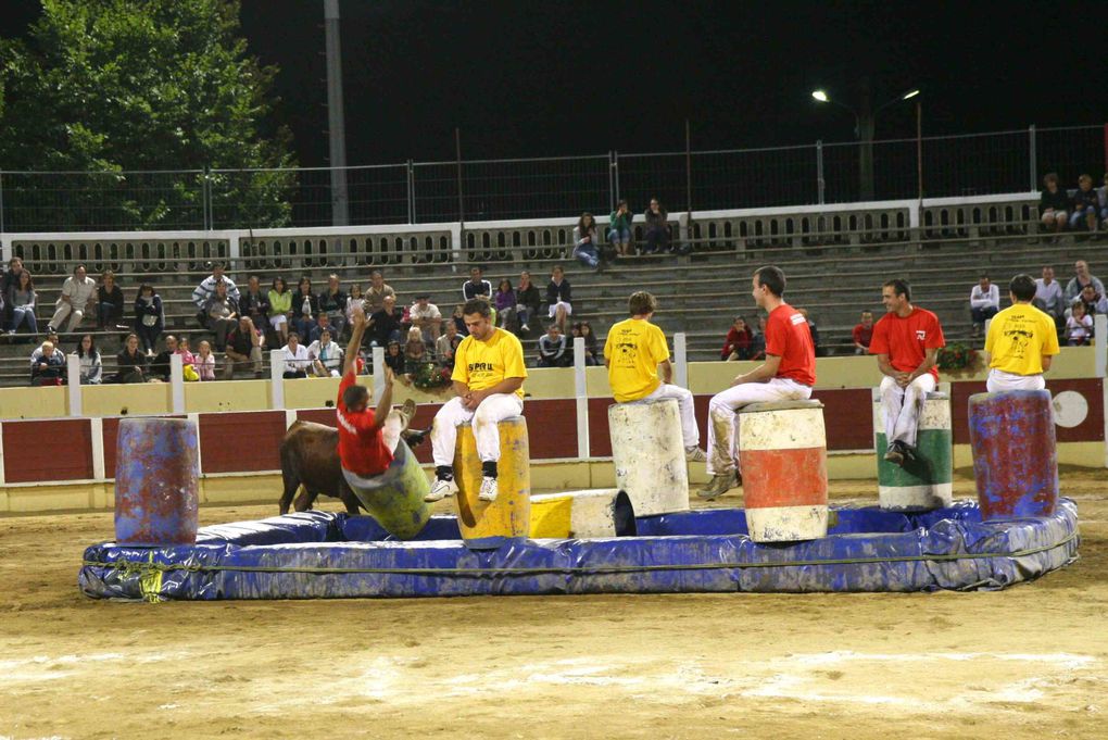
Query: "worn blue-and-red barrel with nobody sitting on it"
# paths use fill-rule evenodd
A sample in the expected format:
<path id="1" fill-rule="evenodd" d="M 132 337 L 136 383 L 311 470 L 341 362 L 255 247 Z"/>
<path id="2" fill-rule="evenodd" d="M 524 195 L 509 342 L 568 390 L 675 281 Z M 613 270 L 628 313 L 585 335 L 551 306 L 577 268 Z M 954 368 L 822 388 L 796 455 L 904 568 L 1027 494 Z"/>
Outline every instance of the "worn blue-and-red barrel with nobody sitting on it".
<path id="1" fill-rule="evenodd" d="M 115 541 L 196 544 L 199 450 L 187 419 L 123 419 L 115 448 Z"/>

